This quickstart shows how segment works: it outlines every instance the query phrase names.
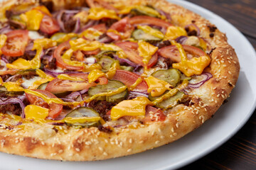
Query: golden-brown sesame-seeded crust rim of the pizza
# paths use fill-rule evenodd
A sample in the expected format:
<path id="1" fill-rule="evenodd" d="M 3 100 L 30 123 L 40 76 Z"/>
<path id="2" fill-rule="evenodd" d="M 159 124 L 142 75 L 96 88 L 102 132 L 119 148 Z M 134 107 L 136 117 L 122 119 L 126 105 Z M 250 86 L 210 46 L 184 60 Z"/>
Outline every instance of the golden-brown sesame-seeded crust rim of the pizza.
<path id="1" fill-rule="evenodd" d="M 128 4 L 126 0 L 106 1 Z M 0 4 L 1 9 L 15 2 L 13 0 L 4 2 Z M 82 0 L 53 0 L 53 2 L 55 9 L 84 4 Z M 213 24 L 181 6 L 164 0 L 129 1 L 129 4 L 139 2 L 170 13 L 174 18 L 174 24 L 179 26 L 186 26 L 191 21 L 196 21 L 196 25 L 201 29 L 201 37 L 207 40 L 211 47 L 215 47 L 211 54 L 212 62 L 207 70 L 213 74 L 213 78 L 191 92 L 194 105 L 191 107 L 178 105 L 172 108 L 164 122 L 138 125 L 138 128 L 114 128 L 112 133 L 100 132 L 97 128 L 60 130 L 56 133 L 49 125 L 38 126 L 30 129 L 29 132 L 2 127 L 0 129 L 1 152 L 68 161 L 122 157 L 178 140 L 198 128 L 218 110 L 235 86 L 240 70 L 238 57 L 235 55 L 235 50 L 228 45 L 225 34 L 215 30 L 214 37 L 210 38 L 208 26 Z M 181 20 L 182 23 L 179 23 Z M 46 136 L 38 135 L 42 132 Z"/>

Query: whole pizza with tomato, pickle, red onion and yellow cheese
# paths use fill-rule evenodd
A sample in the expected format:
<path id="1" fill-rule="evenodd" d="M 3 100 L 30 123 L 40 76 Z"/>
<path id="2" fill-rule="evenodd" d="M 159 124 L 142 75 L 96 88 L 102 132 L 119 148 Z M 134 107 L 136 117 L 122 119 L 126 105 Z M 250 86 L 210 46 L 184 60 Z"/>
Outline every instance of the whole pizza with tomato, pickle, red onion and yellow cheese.
<path id="1" fill-rule="evenodd" d="M 164 0 L 0 7 L 0 151 L 93 161 L 178 140 L 238 80 L 213 23 Z"/>

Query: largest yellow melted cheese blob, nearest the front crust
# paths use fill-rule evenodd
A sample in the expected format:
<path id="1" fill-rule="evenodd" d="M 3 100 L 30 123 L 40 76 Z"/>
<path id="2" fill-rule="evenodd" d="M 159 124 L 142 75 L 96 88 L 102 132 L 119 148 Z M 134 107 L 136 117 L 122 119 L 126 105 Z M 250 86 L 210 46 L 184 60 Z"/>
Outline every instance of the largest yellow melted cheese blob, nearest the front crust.
<path id="1" fill-rule="evenodd" d="M 110 117 L 112 120 L 117 120 L 125 115 L 139 116 L 145 115 L 146 106 L 153 105 L 148 98 L 140 96 L 132 100 L 121 101 L 111 109 Z"/>

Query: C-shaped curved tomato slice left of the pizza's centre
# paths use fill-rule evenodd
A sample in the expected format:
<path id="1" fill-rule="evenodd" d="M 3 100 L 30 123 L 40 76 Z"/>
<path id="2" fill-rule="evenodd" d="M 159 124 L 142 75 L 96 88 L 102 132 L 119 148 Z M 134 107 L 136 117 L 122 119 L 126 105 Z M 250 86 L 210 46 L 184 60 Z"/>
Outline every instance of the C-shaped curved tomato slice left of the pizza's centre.
<path id="1" fill-rule="evenodd" d="M 56 64 L 58 67 L 61 67 L 63 69 L 71 69 L 71 70 L 82 70 L 83 67 L 73 66 L 70 64 L 67 64 L 63 61 L 61 55 L 63 54 L 64 50 L 68 50 L 70 48 L 70 44 L 68 41 L 61 43 L 58 45 L 58 47 L 55 49 L 53 53 L 53 57 L 56 58 Z"/>

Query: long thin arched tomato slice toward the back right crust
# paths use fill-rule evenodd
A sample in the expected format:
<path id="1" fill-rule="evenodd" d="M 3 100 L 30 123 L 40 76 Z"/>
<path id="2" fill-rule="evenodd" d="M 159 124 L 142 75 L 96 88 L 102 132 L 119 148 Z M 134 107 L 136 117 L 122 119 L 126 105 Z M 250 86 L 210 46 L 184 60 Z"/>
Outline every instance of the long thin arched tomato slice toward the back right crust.
<path id="1" fill-rule="evenodd" d="M 137 25 L 137 24 L 150 24 L 154 26 L 160 26 L 164 28 L 168 28 L 169 26 L 172 26 L 171 23 L 166 22 L 164 20 L 161 20 L 159 18 L 154 18 L 151 16 L 134 16 L 132 18 L 129 18 L 129 23 L 132 25 Z"/>

